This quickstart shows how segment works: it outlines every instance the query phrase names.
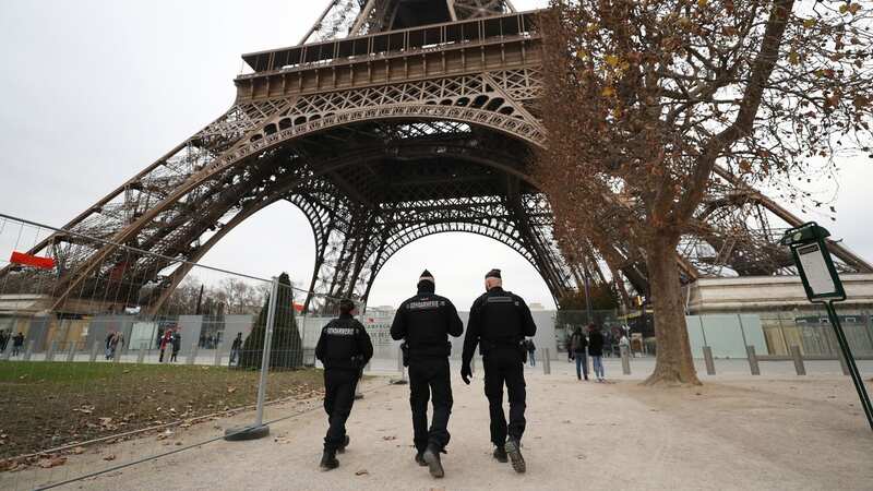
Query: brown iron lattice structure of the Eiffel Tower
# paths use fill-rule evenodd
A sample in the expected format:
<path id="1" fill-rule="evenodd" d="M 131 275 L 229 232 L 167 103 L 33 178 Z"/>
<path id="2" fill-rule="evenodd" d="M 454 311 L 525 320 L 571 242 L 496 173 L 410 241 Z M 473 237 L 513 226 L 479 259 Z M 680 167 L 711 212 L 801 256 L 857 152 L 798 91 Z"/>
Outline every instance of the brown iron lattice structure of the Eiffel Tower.
<path id="1" fill-rule="evenodd" d="M 513 248 L 555 299 L 598 264 L 602 251 L 565 261 L 531 178 L 545 144 L 536 12 L 497 0 L 335 0 L 306 39 L 244 55 L 252 73 L 235 81 L 227 112 L 75 217 L 64 227 L 73 233 L 31 251 L 59 264 L 57 309 L 109 288 L 118 302 L 157 309 L 191 268 L 172 260 L 199 261 L 280 200 L 309 218 L 309 289 L 331 297 L 366 300 L 393 254 L 450 231 Z M 718 173 L 719 191 L 681 244 L 685 278 L 790 273 L 777 242 L 800 218 Z M 646 291 L 638 251 L 612 247 L 620 271 Z M 832 249 L 844 270 L 873 271 Z M 120 272 L 125 280 L 112 284 Z M 307 299 L 310 310 L 324 307 Z"/>

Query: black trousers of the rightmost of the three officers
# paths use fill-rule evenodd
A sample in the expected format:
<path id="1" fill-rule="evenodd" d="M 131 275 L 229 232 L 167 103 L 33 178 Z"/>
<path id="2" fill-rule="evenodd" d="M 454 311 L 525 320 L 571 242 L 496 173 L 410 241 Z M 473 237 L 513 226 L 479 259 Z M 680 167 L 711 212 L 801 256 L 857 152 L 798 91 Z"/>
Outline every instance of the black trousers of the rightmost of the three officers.
<path id="1" fill-rule="evenodd" d="M 525 432 L 525 368 L 522 354 L 514 348 L 494 348 L 483 358 L 485 395 L 491 416 L 491 442 L 503 446 L 506 435 L 522 440 Z M 503 385 L 510 399 L 510 422 L 503 414 Z"/>

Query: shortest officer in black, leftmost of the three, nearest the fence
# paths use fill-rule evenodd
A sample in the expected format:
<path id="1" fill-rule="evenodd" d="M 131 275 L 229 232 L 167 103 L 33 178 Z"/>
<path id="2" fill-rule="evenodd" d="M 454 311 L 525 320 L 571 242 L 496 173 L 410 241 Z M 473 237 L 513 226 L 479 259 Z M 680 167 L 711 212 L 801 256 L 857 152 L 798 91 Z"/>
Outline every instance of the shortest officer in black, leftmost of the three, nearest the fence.
<path id="1" fill-rule="evenodd" d="M 321 331 L 315 357 L 324 364 L 324 410 L 330 428 L 324 436 L 322 470 L 339 466 L 337 452 L 344 452 L 349 439 L 346 420 L 355 403 L 355 387 L 361 367 L 373 356 L 373 344 L 363 325 L 351 316 L 355 303 L 339 302 L 339 319 L 334 319 Z"/>

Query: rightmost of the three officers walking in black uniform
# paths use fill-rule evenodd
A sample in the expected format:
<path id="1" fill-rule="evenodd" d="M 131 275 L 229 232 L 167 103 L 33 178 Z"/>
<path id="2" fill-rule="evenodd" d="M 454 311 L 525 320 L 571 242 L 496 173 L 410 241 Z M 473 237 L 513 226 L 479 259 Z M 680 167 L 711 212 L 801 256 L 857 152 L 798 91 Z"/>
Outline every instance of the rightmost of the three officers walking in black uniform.
<path id="1" fill-rule="evenodd" d="M 491 416 L 491 442 L 494 458 L 501 463 L 512 459 L 516 472 L 526 470 L 521 440 L 525 431 L 524 339 L 537 333 L 534 316 L 522 297 L 503 290 L 500 270 L 485 277 L 486 294 L 470 308 L 467 334 L 464 337 L 461 378 L 469 384 L 470 360 L 476 345 L 485 367 L 485 395 Z M 510 398 L 510 423 L 503 415 L 503 384 Z M 509 439 L 507 439 L 509 434 Z M 509 456 L 509 458 L 507 458 Z"/>

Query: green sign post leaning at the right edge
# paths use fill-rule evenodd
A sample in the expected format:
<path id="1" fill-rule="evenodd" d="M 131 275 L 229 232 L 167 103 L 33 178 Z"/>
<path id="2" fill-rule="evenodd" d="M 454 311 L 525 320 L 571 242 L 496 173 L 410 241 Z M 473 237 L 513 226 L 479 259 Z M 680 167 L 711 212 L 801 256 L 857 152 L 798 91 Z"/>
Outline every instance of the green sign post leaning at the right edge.
<path id="1" fill-rule="evenodd" d="M 806 298 L 813 303 L 824 303 L 827 309 L 827 316 L 830 325 L 834 326 L 842 357 L 849 367 L 849 374 L 854 382 L 854 388 L 858 391 L 858 397 L 861 399 L 861 406 L 864 408 L 870 428 L 873 430 L 873 405 L 870 403 L 864 381 L 858 371 L 858 364 L 854 362 L 849 342 L 842 332 L 842 325 L 834 308 L 834 302 L 846 300 L 846 290 L 842 288 L 842 282 L 839 279 L 837 268 L 834 267 L 834 261 L 830 259 L 830 252 L 827 250 L 826 239 L 829 236 L 830 232 L 825 228 L 811 221 L 788 230 L 781 243 L 791 249 L 800 279 L 803 282 L 803 289 L 806 290 Z"/>

